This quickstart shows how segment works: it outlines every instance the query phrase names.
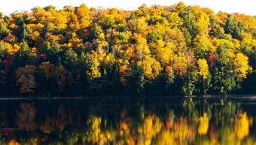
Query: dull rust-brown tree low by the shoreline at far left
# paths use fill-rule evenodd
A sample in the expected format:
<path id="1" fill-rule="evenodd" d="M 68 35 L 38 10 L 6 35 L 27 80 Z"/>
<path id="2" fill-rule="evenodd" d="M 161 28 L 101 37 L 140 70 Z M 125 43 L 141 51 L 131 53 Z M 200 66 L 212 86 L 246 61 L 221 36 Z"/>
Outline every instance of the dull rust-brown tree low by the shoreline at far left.
<path id="1" fill-rule="evenodd" d="M 21 93 L 35 93 L 37 83 L 35 82 L 35 73 L 37 68 L 33 65 L 26 65 L 25 68 L 18 68 L 15 72 L 17 86 L 20 86 Z"/>

